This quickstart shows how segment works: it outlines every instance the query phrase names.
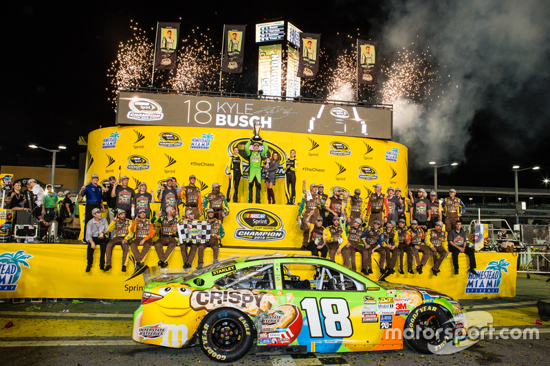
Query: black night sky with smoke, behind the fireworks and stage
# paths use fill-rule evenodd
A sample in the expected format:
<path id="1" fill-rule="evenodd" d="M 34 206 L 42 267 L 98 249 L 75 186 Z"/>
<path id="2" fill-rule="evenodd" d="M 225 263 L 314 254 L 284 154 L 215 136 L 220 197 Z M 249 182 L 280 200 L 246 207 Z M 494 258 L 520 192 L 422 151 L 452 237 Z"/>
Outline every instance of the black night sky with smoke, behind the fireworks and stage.
<path id="1" fill-rule="evenodd" d="M 542 180 L 550 175 L 548 1 L 350 0 L 311 3 L 307 10 L 299 1 L 160 4 L 41 1 L 12 2 L 4 9 L 9 19 L 3 27 L 8 49 L 3 52 L 0 165 L 17 165 L 18 157 L 51 157 L 28 148 L 31 143 L 66 144 L 58 159 L 78 162 L 85 151 L 77 145 L 78 136 L 114 125 L 107 69 L 119 43 L 133 37 L 131 20 L 153 40 L 157 21 L 181 17 L 182 35 L 200 27 L 217 49 L 224 23 L 247 24 L 245 69 L 236 85 L 241 93 L 254 93 L 254 24 L 282 18 L 304 32 L 322 34 L 325 69 L 356 37 L 379 41 L 379 59 L 387 62 L 399 50 L 430 47 L 432 71 L 445 80 L 433 93 L 454 101 L 445 99 L 443 105 L 411 98 L 411 104 L 396 108 L 394 139 L 409 148 L 409 183 L 432 185 L 427 162 L 435 160 L 460 163 L 440 170 L 441 185 L 513 187 L 511 166 L 518 164 L 541 167 L 521 172 L 520 187 L 545 187 Z M 384 74 L 379 79 L 387 80 Z"/>

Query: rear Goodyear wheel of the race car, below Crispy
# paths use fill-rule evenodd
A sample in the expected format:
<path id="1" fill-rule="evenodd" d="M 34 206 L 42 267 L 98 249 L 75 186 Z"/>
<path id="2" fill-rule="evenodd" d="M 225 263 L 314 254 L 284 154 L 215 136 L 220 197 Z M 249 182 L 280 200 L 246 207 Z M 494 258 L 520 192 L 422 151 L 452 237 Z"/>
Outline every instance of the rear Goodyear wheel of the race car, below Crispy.
<path id="1" fill-rule="evenodd" d="M 254 338 L 250 317 L 234 308 L 212 310 L 199 328 L 202 351 L 218 362 L 239 360 L 250 351 Z"/>

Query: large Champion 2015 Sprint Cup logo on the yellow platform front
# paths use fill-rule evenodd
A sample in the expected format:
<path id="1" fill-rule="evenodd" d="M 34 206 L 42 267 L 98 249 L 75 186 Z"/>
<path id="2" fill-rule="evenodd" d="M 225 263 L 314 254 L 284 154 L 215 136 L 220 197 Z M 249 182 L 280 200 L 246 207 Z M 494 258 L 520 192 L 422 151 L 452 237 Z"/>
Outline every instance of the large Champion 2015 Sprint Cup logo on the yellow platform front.
<path id="1" fill-rule="evenodd" d="M 241 229 L 234 231 L 234 238 L 250 241 L 283 240 L 286 231 L 283 220 L 265 209 L 243 209 L 236 214 Z"/>

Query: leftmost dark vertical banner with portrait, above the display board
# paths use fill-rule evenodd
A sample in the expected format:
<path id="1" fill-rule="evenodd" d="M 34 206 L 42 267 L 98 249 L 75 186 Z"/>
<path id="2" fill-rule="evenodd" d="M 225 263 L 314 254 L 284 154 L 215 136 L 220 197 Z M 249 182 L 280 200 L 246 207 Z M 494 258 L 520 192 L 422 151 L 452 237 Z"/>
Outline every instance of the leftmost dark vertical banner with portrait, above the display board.
<path id="1" fill-rule="evenodd" d="M 179 23 L 158 22 L 155 43 L 155 69 L 175 69 Z"/>

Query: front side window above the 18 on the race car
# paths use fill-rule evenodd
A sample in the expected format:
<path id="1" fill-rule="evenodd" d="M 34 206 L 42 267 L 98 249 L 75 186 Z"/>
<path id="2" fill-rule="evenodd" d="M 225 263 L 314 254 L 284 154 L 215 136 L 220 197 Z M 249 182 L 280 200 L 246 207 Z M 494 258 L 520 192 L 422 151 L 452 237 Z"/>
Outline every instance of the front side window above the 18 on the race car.
<path id="1" fill-rule="evenodd" d="M 364 285 L 334 268 L 315 264 L 283 264 L 283 288 L 362 291 Z"/>

